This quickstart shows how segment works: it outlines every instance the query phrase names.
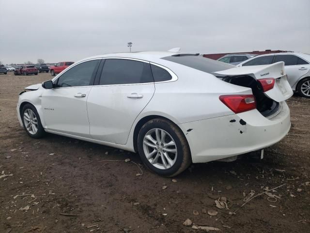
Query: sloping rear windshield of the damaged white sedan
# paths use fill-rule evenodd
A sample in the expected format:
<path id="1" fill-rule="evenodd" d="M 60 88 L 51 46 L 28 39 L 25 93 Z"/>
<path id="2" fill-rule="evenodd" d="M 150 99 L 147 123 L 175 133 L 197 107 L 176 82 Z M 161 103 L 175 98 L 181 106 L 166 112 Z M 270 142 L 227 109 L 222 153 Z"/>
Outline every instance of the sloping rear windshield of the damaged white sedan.
<path id="1" fill-rule="evenodd" d="M 235 67 L 227 63 L 219 62 L 216 60 L 212 60 L 209 58 L 205 58 L 202 56 L 196 56 L 196 55 L 169 56 L 169 57 L 163 57 L 162 59 L 175 62 L 181 65 L 184 65 L 186 67 L 198 69 L 206 73 L 212 73 L 212 72 L 221 71 L 221 70 Z"/>

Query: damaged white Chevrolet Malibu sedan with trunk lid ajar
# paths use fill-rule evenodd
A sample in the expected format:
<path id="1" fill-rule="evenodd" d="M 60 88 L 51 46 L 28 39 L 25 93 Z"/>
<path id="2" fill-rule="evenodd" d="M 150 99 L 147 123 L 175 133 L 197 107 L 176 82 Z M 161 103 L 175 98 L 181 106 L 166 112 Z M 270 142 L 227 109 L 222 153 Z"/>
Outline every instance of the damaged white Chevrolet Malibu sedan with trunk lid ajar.
<path id="1" fill-rule="evenodd" d="M 283 62 L 234 67 L 198 54 L 114 53 L 25 89 L 17 116 L 31 137 L 56 133 L 139 152 L 169 177 L 273 145 L 291 126 Z"/>

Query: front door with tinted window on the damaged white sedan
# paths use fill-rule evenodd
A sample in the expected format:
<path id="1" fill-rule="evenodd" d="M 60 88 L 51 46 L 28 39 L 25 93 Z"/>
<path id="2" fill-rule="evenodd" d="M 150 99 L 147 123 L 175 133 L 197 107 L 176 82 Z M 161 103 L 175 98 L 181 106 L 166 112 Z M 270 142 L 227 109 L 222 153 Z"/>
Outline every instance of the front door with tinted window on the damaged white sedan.
<path id="1" fill-rule="evenodd" d="M 90 137 L 86 100 L 99 63 L 98 59 L 82 62 L 55 80 L 56 88 L 43 91 L 42 111 L 47 130 Z"/>

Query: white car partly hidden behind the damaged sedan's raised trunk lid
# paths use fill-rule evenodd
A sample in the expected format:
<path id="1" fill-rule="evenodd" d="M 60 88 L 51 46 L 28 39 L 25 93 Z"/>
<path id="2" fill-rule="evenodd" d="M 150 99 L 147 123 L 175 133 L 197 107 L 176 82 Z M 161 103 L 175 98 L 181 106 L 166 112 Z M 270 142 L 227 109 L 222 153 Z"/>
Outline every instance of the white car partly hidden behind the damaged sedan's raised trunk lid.
<path id="1" fill-rule="evenodd" d="M 301 52 L 263 54 L 242 62 L 238 67 L 269 65 L 284 62 L 287 80 L 293 91 L 310 98 L 310 55 Z"/>

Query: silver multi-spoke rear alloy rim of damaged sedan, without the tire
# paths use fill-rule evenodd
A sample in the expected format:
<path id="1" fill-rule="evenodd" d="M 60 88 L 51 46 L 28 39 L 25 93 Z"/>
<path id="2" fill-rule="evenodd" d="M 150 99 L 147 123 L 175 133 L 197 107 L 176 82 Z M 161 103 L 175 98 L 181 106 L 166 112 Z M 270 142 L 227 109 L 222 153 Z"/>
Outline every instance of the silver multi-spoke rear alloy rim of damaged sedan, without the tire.
<path id="1" fill-rule="evenodd" d="M 177 158 L 176 144 L 171 135 L 162 129 L 152 129 L 143 138 L 143 151 L 156 168 L 169 169 Z"/>

